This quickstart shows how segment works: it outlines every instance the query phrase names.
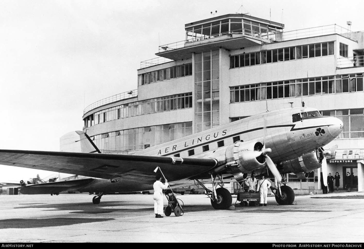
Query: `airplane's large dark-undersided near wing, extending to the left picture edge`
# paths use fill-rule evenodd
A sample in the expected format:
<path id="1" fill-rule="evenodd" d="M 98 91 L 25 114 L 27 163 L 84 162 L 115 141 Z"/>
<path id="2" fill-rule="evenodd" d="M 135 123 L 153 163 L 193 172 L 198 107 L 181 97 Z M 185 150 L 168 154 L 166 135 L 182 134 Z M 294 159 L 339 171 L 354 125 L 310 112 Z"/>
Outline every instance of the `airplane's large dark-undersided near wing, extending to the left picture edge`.
<path id="1" fill-rule="evenodd" d="M 157 166 L 168 181 L 175 181 L 209 171 L 217 162 L 212 158 L 0 150 L 1 164 L 150 184 L 155 181 Z"/>

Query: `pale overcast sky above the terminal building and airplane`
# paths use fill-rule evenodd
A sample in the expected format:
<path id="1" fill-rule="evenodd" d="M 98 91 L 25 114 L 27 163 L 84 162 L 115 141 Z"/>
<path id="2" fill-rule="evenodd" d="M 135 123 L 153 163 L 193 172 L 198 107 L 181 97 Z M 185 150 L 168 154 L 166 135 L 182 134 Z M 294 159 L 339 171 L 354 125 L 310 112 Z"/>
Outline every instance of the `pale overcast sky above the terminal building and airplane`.
<path id="1" fill-rule="evenodd" d="M 284 31 L 337 24 L 364 30 L 363 1 L 1 0 L 0 149 L 59 151 L 87 105 L 137 88 L 140 62 L 185 39 L 184 25 L 229 13 Z M 0 166 L 0 182 L 50 173 Z"/>

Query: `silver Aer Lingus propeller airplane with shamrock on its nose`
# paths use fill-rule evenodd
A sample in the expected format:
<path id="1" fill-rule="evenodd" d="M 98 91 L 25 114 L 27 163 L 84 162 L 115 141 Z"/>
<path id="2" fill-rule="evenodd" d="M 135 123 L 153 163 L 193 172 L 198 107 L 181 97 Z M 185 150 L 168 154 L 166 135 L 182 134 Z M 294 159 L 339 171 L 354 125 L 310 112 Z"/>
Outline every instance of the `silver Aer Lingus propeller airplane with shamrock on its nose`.
<path id="1" fill-rule="evenodd" d="M 94 204 L 100 203 L 104 193 L 153 189 L 154 169 L 159 166 L 171 186 L 189 186 L 194 181 L 205 188 L 202 182 L 211 181 L 213 190 L 205 190 L 215 209 L 232 205 L 232 195 L 223 188 L 224 178 L 241 182 L 252 171 L 256 175 L 268 172 L 277 180 L 273 189 L 276 201 L 289 205 L 294 193 L 281 174 L 294 173 L 305 179 L 307 173 L 320 167 L 325 174 L 325 157 L 330 151 L 322 147 L 342 129 L 340 119 L 321 116 L 314 108 L 293 107 L 250 116 L 130 155 L 0 150 L 0 165 L 87 176 L 63 182 L 23 183 L 21 193 L 99 192 L 92 199 Z M 77 133 L 82 151 L 100 152 L 87 134 Z"/>

